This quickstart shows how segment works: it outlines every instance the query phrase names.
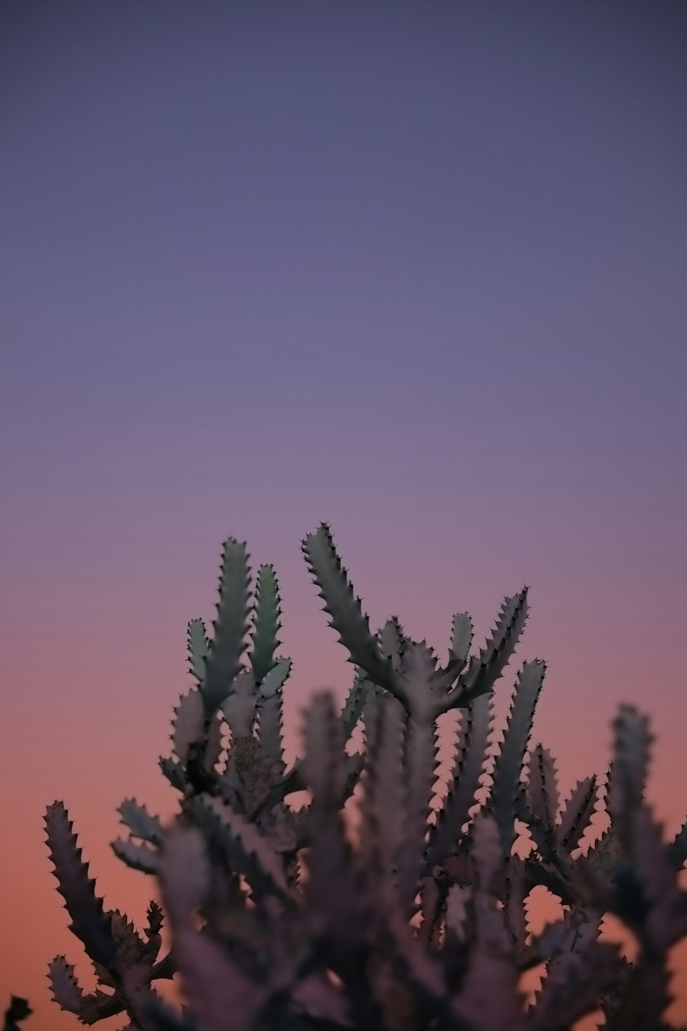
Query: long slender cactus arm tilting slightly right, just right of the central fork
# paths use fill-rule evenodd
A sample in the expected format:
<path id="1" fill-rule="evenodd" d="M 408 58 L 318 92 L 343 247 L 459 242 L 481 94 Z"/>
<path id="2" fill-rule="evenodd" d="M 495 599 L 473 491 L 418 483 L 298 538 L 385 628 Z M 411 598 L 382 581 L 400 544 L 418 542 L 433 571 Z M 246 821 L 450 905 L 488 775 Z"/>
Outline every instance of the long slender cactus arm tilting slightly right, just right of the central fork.
<path id="1" fill-rule="evenodd" d="M 515 840 L 515 803 L 520 791 L 520 773 L 545 671 L 546 664 L 542 660 L 523 664 L 515 685 L 505 737 L 494 763 L 488 807 L 496 819 L 506 856 L 510 855 Z"/>

